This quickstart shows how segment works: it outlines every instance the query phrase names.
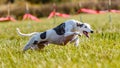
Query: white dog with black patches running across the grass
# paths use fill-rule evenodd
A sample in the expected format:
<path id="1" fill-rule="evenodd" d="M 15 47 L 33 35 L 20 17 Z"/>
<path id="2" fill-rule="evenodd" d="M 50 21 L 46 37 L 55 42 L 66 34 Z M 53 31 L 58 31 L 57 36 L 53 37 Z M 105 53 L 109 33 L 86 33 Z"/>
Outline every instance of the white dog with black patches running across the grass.
<path id="1" fill-rule="evenodd" d="M 68 20 L 61 23 L 53 29 L 45 32 L 33 32 L 30 34 L 23 34 L 17 28 L 17 32 L 21 36 L 32 36 L 28 43 L 23 48 L 23 51 L 28 49 L 41 49 L 49 43 L 57 45 L 66 45 L 68 42 L 75 42 L 75 46 L 79 45 L 79 36 L 84 34 L 89 37 L 88 33 L 93 33 L 90 25 L 82 23 L 77 20 Z"/>

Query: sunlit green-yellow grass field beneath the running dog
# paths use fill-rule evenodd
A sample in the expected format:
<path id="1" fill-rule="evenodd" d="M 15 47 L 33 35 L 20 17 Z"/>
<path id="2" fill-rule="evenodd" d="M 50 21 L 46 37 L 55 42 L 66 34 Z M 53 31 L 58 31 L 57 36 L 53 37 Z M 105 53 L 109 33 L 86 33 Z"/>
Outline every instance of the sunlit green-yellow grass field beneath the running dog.
<path id="1" fill-rule="evenodd" d="M 88 22 L 94 34 L 88 39 L 80 37 L 79 47 L 73 44 L 57 46 L 50 44 L 41 51 L 21 50 L 29 37 L 16 33 L 20 28 L 23 33 L 45 31 L 67 19 L 42 18 L 35 21 L 1 22 L 0 23 L 0 68 L 120 68 L 120 14 L 74 15 L 70 19 Z"/>

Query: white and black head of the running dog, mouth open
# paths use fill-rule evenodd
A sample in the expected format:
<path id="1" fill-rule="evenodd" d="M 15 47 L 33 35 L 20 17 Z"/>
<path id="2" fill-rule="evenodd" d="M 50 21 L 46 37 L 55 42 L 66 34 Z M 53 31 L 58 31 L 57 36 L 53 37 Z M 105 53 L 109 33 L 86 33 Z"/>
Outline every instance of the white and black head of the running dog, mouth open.
<path id="1" fill-rule="evenodd" d="M 94 31 L 91 29 L 90 25 L 87 23 L 77 23 L 77 29 L 81 34 L 84 34 L 86 37 L 89 38 L 88 33 L 93 33 Z"/>

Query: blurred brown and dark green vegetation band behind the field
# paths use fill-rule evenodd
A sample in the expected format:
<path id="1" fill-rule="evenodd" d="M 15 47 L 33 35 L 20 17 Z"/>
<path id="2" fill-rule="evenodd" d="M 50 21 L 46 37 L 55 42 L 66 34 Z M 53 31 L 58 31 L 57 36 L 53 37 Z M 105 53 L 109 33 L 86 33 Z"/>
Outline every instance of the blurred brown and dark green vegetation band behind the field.
<path id="1" fill-rule="evenodd" d="M 29 10 L 26 8 L 26 3 Z M 78 14 L 80 8 L 119 10 L 120 0 L 0 0 L 0 17 L 7 16 L 8 9 L 10 15 L 18 20 L 21 20 L 27 12 L 39 18 L 47 17 L 54 8 L 58 12 L 71 15 Z"/>

